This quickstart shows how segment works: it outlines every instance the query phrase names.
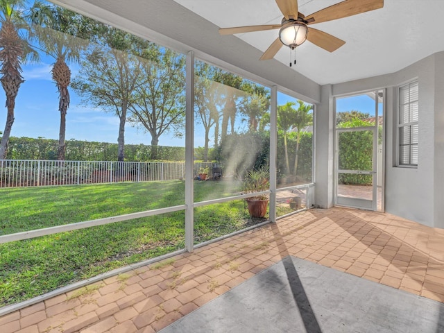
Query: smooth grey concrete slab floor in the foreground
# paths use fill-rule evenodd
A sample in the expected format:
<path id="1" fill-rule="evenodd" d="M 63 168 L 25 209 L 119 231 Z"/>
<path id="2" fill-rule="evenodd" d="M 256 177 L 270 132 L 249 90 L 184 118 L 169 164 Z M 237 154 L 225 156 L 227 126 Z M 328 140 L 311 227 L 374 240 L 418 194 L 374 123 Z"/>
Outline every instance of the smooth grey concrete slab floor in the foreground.
<path id="1" fill-rule="evenodd" d="M 444 304 L 285 257 L 161 333 L 444 332 Z"/>

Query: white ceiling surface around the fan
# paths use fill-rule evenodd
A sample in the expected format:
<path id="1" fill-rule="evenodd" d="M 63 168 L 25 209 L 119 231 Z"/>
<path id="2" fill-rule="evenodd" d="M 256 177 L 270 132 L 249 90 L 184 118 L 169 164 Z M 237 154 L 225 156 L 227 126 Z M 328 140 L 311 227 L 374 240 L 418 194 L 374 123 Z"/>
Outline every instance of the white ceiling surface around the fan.
<path id="1" fill-rule="evenodd" d="M 282 19 L 273 0 L 174 1 L 221 28 L 280 24 Z M 299 11 L 309 15 L 338 2 L 341 1 L 299 0 L 298 4 Z M 382 9 L 314 24 L 314 28 L 346 43 L 329 53 L 305 42 L 296 49 L 298 62 L 291 70 L 320 85 L 393 73 L 432 53 L 444 51 L 443 15 L 443 0 L 386 0 Z M 244 33 L 237 37 L 263 52 L 278 37 L 278 31 Z M 288 66 L 289 49 L 282 47 L 275 59 Z"/>

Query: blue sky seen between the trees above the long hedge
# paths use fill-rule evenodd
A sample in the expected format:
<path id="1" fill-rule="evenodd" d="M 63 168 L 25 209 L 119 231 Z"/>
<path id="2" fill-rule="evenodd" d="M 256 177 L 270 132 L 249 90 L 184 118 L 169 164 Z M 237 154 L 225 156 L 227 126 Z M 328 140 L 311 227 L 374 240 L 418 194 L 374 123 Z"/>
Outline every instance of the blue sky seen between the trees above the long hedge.
<path id="1" fill-rule="evenodd" d="M 19 89 L 15 105 L 15 121 L 11 136 L 44 137 L 58 139 L 60 112 L 58 111 L 58 90 L 51 79 L 52 58 L 42 58 L 39 64 L 23 66 L 25 82 Z M 71 65 L 71 76 L 74 78 L 78 66 Z M 119 118 L 112 113 L 103 112 L 85 105 L 80 96 L 69 89 L 71 103 L 67 111 L 66 139 L 78 139 L 97 142 L 117 143 Z M 279 94 L 279 103 L 288 100 L 296 101 L 287 95 Z M 0 89 L 0 130 L 3 131 L 6 121 L 5 94 Z M 245 126 L 240 123 L 237 126 Z M 203 146 L 203 132 L 196 125 L 195 146 Z M 126 144 L 151 144 L 151 135 L 140 128 L 126 124 Z M 213 140 L 210 140 L 212 144 Z M 184 138 L 176 138 L 169 134 L 160 137 L 162 146 L 185 146 Z"/>

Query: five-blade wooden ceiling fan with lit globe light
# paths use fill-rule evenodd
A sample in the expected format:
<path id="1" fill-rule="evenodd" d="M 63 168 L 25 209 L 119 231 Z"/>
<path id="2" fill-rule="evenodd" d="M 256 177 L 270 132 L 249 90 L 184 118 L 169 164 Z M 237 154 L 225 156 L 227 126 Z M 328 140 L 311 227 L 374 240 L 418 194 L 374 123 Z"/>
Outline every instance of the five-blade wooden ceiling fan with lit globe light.
<path id="1" fill-rule="evenodd" d="M 318 10 L 311 15 L 303 15 L 298 12 L 297 0 L 275 0 L 284 17 L 281 24 L 265 24 L 262 26 L 237 26 L 234 28 L 220 28 L 221 35 L 232 35 L 234 33 L 250 33 L 253 31 L 265 31 L 280 29 L 279 37 L 262 54 L 260 60 L 272 59 L 284 45 L 295 49 L 305 40 L 333 52 L 343 46 L 345 42 L 328 33 L 308 28 L 310 24 L 332 21 L 352 15 L 360 14 L 382 8 L 384 0 L 345 0 L 330 7 Z"/>

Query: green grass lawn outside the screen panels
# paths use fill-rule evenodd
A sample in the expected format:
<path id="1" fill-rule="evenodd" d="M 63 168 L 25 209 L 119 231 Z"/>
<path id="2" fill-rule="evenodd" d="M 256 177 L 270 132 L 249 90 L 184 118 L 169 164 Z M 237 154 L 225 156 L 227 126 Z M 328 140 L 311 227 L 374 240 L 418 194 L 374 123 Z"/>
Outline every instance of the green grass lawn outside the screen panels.
<path id="1" fill-rule="evenodd" d="M 195 200 L 229 196 L 225 182 L 195 182 Z M 0 234 L 181 205 L 182 181 L 1 189 Z M 264 220 L 261 220 L 264 221 Z M 195 210 L 195 243 L 252 221 L 244 200 Z M 0 244 L 0 307 L 183 248 L 185 212 Z"/>

